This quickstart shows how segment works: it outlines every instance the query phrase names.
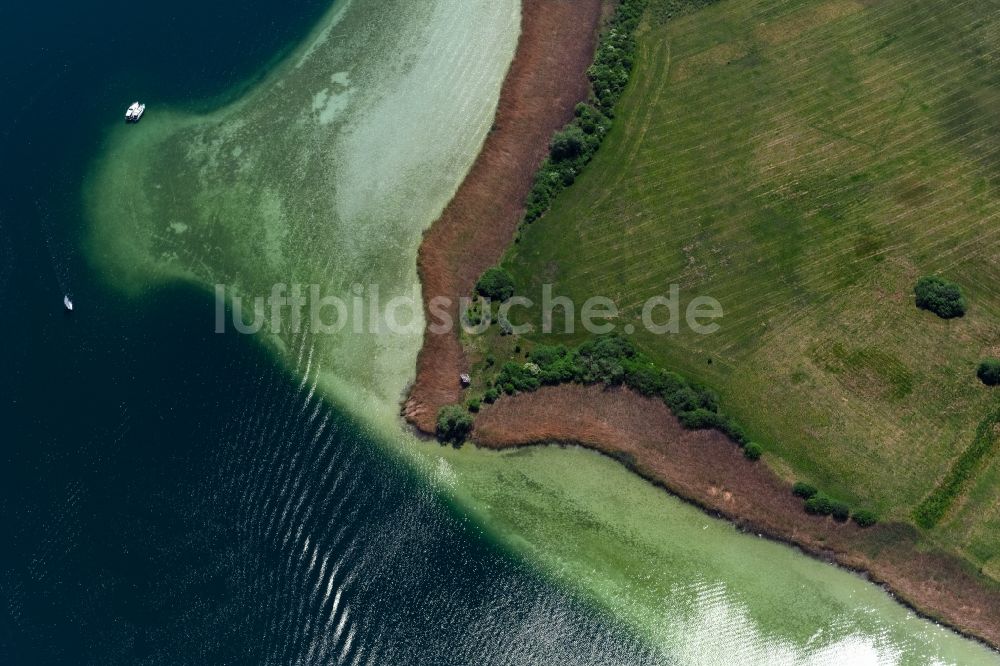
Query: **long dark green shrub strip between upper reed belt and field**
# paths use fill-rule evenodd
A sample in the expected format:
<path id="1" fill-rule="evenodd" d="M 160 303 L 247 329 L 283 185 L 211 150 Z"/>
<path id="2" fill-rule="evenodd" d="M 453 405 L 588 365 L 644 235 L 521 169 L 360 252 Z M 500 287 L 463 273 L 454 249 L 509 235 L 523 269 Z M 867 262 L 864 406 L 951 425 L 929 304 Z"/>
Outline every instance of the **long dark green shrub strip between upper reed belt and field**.
<path id="1" fill-rule="evenodd" d="M 544 215 L 556 195 L 573 184 L 611 129 L 614 106 L 632 73 L 635 29 L 645 6 L 646 0 L 621 0 L 601 35 L 594 63 L 587 70 L 592 99 L 577 104 L 573 120 L 552 137 L 549 156 L 535 174 L 525 202 L 525 224 Z"/>

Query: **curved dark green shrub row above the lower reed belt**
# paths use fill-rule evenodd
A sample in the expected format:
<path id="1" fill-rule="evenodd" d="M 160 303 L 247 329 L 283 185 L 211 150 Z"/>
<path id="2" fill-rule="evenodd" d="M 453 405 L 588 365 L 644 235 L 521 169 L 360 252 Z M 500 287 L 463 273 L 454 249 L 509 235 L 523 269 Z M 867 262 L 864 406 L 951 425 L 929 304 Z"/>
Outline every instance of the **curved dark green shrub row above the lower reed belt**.
<path id="1" fill-rule="evenodd" d="M 750 444 L 743 429 L 719 411 L 719 398 L 711 389 L 689 382 L 675 372 L 657 367 L 626 338 L 604 335 L 575 349 L 564 345 L 539 345 L 528 355 L 527 363 L 508 362 L 493 381 L 492 396 L 530 393 L 544 385 L 575 382 L 628 386 L 644 396 L 659 398 L 689 430 L 715 429 L 741 447 Z M 745 451 L 751 460 L 763 450 L 753 444 Z"/>

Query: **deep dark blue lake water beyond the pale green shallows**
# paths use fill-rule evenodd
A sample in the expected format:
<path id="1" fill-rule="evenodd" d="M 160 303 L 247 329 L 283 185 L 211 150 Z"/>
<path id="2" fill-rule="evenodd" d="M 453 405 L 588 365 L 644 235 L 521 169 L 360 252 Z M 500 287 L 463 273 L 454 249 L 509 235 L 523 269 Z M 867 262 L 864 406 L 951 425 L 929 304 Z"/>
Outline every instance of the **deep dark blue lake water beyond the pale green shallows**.
<path id="1" fill-rule="evenodd" d="M 0 6 L 0 664 L 648 659 L 214 335 L 205 295 L 128 300 L 79 249 L 128 103 L 221 103 L 328 8 Z"/>

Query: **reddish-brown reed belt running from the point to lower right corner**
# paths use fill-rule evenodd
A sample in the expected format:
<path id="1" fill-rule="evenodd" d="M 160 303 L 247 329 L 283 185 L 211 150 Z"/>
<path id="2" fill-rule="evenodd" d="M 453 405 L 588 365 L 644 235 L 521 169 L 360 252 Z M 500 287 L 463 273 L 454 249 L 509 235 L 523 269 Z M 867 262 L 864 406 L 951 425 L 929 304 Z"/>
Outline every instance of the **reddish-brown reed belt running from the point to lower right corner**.
<path id="1" fill-rule="evenodd" d="M 476 420 L 488 448 L 578 443 L 676 495 L 811 555 L 865 572 L 923 615 L 1000 646 L 1000 585 L 918 545 L 915 528 L 812 517 L 766 464 L 715 431 L 684 430 L 662 401 L 626 389 L 565 385 L 503 398 Z"/>

